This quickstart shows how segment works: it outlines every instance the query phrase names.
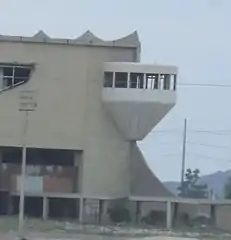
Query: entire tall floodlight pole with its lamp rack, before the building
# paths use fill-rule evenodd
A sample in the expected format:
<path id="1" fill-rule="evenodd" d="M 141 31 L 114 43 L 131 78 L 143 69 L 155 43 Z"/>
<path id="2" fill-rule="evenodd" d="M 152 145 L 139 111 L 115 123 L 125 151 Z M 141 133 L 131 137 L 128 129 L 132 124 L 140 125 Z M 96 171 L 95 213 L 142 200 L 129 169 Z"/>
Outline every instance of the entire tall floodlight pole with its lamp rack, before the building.
<path id="1" fill-rule="evenodd" d="M 27 128 L 29 112 L 35 111 L 37 102 L 34 97 L 34 91 L 24 90 L 20 92 L 19 111 L 25 113 L 25 122 L 23 127 L 23 142 L 22 142 L 22 166 L 21 166 L 21 184 L 20 184 L 20 199 L 19 199 L 19 234 L 23 235 L 24 228 L 24 200 L 25 200 L 25 177 L 26 177 L 26 153 L 27 153 Z"/>

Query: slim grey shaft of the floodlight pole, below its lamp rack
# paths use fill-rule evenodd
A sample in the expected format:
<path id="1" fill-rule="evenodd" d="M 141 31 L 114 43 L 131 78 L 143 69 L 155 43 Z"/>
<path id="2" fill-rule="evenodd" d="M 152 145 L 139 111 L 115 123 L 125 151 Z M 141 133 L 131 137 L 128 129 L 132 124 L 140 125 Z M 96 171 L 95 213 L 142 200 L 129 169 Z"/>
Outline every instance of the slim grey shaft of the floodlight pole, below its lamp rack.
<path id="1" fill-rule="evenodd" d="M 22 170 L 20 185 L 20 201 L 19 201 L 19 233 L 22 234 L 24 228 L 24 200 L 25 200 L 25 176 L 26 176 L 26 133 L 28 125 L 28 111 L 25 111 L 25 123 L 23 129 L 23 146 L 22 146 Z"/>

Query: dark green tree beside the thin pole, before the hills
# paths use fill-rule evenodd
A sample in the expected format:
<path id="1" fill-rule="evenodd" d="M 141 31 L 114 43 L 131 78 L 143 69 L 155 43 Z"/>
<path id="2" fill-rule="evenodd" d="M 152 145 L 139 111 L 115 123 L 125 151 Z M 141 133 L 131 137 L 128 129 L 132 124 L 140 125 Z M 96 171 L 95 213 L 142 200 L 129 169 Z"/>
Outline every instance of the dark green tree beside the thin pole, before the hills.
<path id="1" fill-rule="evenodd" d="M 207 198 L 208 187 L 206 184 L 199 184 L 200 170 L 187 169 L 185 173 L 185 181 L 183 185 L 178 188 L 179 196 L 189 198 Z"/>

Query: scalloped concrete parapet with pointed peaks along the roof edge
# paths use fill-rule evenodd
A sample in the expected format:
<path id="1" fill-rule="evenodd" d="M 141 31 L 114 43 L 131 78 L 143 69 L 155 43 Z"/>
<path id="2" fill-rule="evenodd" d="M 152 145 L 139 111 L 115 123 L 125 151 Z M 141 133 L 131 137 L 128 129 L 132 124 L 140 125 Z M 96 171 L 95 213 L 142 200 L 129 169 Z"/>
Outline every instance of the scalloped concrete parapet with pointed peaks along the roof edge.
<path id="1" fill-rule="evenodd" d="M 0 41 L 11 42 L 36 42 L 36 43 L 50 43 L 50 44 L 67 44 L 67 45 L 93 45 L 93 46 L 105 46 L 105 47 L 133 47 L 139 48 L 140 41 L 137 31 L 116 40 L 103 40 L 95 36 L 91 31 L 86 31 L 83 35 L 75 39 L 64 38 L 52 38 L 48 36 L 44 31 L 38 31 L 32 37 L 23 36 L 5 36 L 0 35 Z"/>

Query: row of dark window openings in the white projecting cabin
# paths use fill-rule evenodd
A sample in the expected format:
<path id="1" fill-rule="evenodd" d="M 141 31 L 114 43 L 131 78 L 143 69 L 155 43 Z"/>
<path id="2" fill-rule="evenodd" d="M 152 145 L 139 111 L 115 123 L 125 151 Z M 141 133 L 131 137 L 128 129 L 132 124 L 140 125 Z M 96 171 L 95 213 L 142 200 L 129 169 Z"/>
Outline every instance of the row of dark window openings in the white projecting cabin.
<path id="1" fill-rule="evenodd" d="M 176 74 L 104 72 L 105 88 L 133 88 L 175 91 Z"/>

